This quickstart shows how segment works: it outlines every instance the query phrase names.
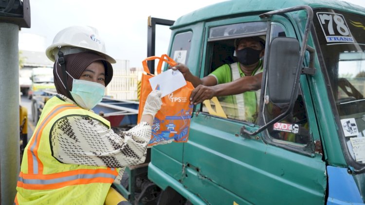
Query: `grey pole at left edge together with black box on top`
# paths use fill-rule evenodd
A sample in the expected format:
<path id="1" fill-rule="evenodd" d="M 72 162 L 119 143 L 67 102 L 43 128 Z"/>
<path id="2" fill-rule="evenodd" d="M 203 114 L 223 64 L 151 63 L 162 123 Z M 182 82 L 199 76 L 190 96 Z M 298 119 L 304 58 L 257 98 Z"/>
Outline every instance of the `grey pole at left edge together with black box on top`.
<path id="1" fill-rule="evenodd" d="M 19 161 L 19 28 L 30 28 L 29 0 L 0 1 L 0 204 L 14 204 Z"/>

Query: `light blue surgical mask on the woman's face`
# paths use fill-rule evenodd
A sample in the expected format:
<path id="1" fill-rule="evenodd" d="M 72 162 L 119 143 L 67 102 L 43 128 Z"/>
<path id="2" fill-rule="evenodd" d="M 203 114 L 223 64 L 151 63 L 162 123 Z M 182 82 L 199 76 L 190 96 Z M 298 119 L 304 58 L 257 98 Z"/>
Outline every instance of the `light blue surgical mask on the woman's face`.
<path id="1" fill-rule="evenodd" d="M 90 110 L 103 99 L 105 86 L 87 80 L 73 79 L 70 93 L 80 107 Z"/>

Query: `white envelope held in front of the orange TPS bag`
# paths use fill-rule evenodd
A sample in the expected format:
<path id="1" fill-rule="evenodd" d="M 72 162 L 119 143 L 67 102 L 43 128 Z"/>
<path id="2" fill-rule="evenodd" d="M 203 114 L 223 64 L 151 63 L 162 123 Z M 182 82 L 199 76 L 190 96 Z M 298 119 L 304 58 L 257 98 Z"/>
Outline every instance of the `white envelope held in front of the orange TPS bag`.
<path id="1" fill-rule="evenodd" d="M 186 85 L 183 74 L 177 70 L 168 69 L 160 75 L 149 78 L 152 90 L 160 90 L 164 97 Z"/>

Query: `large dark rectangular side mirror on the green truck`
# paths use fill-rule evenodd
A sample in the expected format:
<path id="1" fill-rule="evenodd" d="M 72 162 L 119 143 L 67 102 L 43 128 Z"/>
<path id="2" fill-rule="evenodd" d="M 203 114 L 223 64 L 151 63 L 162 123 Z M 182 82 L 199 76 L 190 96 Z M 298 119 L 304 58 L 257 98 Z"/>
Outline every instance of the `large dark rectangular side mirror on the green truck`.
<path id="1" fill-rule="evenodd" d="M 299 41 L 291 37 L 275 37 L 270 43 L 267 77 L 268 95 L 275 104 L 289 103 L 299 61 Z M 294 96 L 296 99 L 297 93 Z"/>

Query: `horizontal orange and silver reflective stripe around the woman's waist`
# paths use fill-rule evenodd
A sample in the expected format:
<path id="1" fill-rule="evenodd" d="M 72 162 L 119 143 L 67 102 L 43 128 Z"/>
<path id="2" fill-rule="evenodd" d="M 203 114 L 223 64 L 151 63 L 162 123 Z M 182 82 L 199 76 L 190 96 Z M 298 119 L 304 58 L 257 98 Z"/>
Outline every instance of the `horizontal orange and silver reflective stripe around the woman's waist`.
<path id="1" fill-rule="evenodd" d="M 55 174 L 24 174 L 19 173 L 18 187 L 46 190 L 70 185 L 90 183 L 113 183 L 118 172 L 115 168 L 77 169 Z"/>

